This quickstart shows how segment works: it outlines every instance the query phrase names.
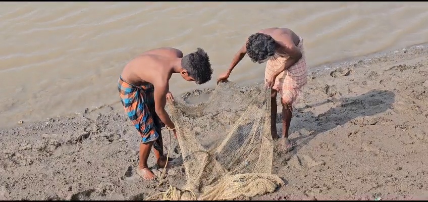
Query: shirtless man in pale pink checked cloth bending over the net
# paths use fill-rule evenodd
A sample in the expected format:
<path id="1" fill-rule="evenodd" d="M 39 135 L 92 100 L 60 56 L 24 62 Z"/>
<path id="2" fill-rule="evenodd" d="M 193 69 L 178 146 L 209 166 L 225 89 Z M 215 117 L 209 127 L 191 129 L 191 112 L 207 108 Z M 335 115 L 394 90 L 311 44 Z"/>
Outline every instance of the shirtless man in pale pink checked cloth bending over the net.
<path id="1" fill-rule="evenodd" d="M 281 95 L 283 139 L 281 150 L 288 152 L 293 149 L 288 139 L 288 130 L 292 118 L 293 108 L 302 87 L 307 83 L 306 60 L 303 49 L 303 39 L 292 30 L 286 28 L 267 28 L 248 37 L 244 46 L 232 60 L 230 68 L 223 73 L 217 82 L 227 80 L 233 68 L 244 58 L 245 54 L 252 62 L 259 64 L 267 61 L 264 72 L 265 85 L 272 89 L 272 138 L 277 139 L 277 102 L 276 97 Z"/>

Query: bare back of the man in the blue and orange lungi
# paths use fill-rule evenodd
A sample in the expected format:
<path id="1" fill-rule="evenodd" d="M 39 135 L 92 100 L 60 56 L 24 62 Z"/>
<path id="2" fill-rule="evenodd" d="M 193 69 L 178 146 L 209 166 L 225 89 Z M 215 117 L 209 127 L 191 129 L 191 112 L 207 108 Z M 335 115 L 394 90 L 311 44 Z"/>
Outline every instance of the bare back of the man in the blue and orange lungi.
<path id="1" fill-rule="evenodd" d="M 176 48 L 162 47 L 146 51 L 130 61 L 123 69 L 121 76 L 124 80 L 140 86 L 151 83 L 168 83 L 172 75 L 174 61 L 183 57 Z"/>

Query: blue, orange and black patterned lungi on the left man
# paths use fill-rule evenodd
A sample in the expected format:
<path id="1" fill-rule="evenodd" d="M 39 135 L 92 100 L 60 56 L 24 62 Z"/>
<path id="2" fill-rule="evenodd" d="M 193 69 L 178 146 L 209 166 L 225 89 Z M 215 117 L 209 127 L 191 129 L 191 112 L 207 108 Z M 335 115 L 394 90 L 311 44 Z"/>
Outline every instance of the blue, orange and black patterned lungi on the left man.
<path id="1" fill-rule="evenodd" d="M 125 113 L 140 133 L 141 142 L 154 141 L 154 148 L 162 151 L 161 128 L 165 127 L 165 124 L 155 112 L 154 86 L 150 83 L 135 86 L 120 76 L 118 90 Z"/>

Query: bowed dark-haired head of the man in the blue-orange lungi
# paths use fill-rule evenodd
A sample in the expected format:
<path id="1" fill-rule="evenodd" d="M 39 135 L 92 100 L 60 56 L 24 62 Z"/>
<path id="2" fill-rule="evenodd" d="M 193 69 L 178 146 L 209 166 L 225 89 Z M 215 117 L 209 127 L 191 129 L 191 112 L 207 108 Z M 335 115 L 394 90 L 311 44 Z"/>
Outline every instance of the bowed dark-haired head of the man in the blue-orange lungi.
<path id="1" fill-rule="evenodd" d="M 196 84 L 203 84 L 211 80 L 212 69 L 208 54 L 198 47 L 196 52 L 183 57 L 181 66 L 187 74 L 195 79 Z"/>

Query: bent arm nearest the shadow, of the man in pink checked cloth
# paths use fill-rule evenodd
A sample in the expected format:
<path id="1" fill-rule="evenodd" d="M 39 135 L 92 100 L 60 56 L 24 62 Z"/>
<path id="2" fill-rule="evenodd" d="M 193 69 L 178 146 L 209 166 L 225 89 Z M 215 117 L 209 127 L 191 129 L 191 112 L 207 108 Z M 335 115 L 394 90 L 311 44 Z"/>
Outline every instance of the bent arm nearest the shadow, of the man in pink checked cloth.
<path id="1" fill-rule="evenodd" d="M 302 58 L 302 52 L 300 52 L 300 49 L 294 44 L 293 40 L 291 39 L 290 35 L 288 34 L 282 34 L 279 38 L 277 38 L 277 42 L 283 47 L 282 49 L 285 51 L 286 54 L 290 56 L 290 58 L 282 65 L 281 68 L 279 68 L 275 72 L 275 76 L 278 76 L 281 74 L 281 72 L 287 70 L 291 66 L 297 63 L 297 61 Z"/>

